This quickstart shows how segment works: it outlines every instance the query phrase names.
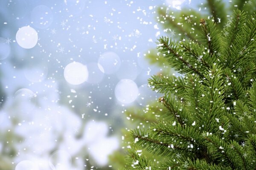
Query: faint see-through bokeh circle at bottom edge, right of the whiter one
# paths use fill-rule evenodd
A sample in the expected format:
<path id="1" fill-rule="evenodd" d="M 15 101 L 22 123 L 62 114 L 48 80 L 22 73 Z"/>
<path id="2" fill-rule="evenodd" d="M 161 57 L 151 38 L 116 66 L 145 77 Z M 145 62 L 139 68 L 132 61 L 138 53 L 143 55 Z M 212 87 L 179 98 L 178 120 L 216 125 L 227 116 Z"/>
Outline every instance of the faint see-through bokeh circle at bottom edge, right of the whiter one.
<path id="1" fill-rule="evenodd" d="M 49 158 L 49 166 L 52 170 L 69 170 L 72 157 L 66 150 L 56 150 Z"/>

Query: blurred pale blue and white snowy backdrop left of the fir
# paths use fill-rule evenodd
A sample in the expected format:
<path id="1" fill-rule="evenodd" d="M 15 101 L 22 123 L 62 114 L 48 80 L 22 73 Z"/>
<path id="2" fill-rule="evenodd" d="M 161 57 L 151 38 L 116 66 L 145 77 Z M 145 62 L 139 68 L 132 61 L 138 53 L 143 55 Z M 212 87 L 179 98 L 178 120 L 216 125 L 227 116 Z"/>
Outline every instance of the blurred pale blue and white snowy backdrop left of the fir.
<path id="1" fill-rule="evenodd" d="M 175 34 L 157 23 L 163 5 L 195 4 L 0 0 L 0 169 L 111 168 L 124 110 L 158 99 L 145 55 Z"/>

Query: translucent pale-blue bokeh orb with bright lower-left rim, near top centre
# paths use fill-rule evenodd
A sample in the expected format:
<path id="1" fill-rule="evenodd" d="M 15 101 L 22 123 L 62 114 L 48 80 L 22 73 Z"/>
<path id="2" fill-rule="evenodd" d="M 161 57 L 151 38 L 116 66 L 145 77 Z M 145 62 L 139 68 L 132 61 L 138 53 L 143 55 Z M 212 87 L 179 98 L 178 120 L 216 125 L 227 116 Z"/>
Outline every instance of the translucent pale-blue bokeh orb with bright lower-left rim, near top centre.
<path id="1" fill-rule="evenodd" d="M 105 52 L 99 57 L 98 63 L 104 69 L 105 74 L 113 74 L 120 68 L 121 60 L 114 52 Z"/>

